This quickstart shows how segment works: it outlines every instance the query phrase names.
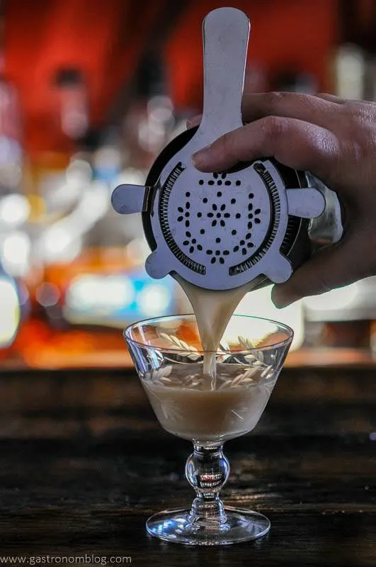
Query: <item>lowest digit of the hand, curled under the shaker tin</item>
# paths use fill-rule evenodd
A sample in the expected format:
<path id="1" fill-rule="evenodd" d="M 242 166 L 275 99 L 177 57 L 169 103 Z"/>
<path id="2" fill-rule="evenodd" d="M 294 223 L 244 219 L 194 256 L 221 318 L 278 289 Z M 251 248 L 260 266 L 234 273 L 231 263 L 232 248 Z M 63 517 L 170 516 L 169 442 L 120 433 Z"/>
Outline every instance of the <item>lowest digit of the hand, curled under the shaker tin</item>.
<path id="1" fill-rule="evenodd" d="M 370 275 L 369 270 L 367 256 L 359 254 L 357 240 L 343 239 L 316 252 L 289 280 L 275 285 L 272 301 L 276 307 L 283 308 L 303 297 L 347 286 Z"/>

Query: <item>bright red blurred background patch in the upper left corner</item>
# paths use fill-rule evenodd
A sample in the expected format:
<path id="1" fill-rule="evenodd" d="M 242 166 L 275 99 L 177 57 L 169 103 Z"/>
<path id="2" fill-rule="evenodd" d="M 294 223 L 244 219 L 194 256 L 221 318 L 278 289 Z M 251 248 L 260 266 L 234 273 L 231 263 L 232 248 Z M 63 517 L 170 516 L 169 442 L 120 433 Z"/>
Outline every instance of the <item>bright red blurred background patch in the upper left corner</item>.
<path id="1" fill-rule="evenodd" d="M 11 0 L 5 16 L 6 74 L 18 87 L 28 152 L 64 150 L 59 67 L 77 67 L 89 88 L 93 123 L 101 122 L 116 91 L 132 75 L 159 9 L 143 0 Z"/>

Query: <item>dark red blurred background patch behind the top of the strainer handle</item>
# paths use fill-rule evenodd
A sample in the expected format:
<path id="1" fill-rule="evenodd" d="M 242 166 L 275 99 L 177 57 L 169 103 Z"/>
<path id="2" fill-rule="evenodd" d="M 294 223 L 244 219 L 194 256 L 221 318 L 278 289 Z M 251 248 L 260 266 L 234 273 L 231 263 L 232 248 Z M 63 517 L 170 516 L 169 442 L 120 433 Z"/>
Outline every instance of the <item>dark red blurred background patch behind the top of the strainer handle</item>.
<path id="1" fill-rule="evenodd" d="M 201 22 L 211 9 L 231 4 L 251 18 L 249 62 L 272 74 L 291 67 L 312 73 L 319 89 L 331 89 L 329 58 L 338 35 L 336 0 L 194 1 L 168 45 L 173 97 L 200 107 L 203 83 Z"/>

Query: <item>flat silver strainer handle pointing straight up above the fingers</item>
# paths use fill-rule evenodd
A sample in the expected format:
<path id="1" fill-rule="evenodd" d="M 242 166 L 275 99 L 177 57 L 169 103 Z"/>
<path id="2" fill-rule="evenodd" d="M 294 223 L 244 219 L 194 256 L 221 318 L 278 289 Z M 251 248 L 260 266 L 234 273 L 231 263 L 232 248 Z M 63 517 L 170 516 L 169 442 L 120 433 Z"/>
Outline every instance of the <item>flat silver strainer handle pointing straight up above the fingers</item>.
<path id="1" fill-rule="evenodd" d="M 198 134 L 203 145 L 239 128 L 250 22 L 244 12 L 220 8 L 203 23 L 204 102 Z"/>

